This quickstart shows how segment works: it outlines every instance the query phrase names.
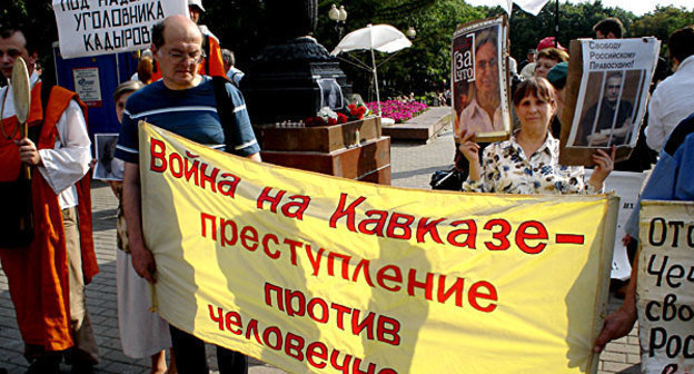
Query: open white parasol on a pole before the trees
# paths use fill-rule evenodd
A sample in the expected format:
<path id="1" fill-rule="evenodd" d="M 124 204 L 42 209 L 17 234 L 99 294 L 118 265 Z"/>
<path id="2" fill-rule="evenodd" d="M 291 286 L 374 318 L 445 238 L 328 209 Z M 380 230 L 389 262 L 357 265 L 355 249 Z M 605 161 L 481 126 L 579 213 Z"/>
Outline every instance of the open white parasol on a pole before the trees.
<path id="1" fill-rule="evenodd" d="M 376 82 L 376 101 L 378 102 L 378 115 L 380 116 L 380 96 L 378 94 L 378 73 L 376 72 L 376 58 L 374 50 L 393 53 L 412 46 L 412 41 L 390 24 L 367 24 L 365 28 L 349 32 L 335 47 L 330 55 L 337 56 L 341 52 L 353 50 L 370 50 L 374 81 Z"/>

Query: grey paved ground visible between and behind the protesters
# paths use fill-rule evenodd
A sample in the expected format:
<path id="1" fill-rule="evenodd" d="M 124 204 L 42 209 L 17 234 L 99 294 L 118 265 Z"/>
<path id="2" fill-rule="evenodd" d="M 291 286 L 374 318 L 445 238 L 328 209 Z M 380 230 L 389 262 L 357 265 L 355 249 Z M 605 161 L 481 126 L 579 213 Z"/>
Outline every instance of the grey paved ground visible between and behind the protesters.
<path id="1" fill-rule="evenodd" d="M 453 159 L 450 127 L 426 145 L 393 144 L 393 185 L 409 188 L 429 188 L 432 173 L 449 168 Z M 116 206 L 110 188 L 102 183 L 92 184 L 93 238 L 101 273 L 87 287 L 87 303 L 95 325 L 101 363 L 97 373 L 148 373 L 149 360 L 135 361 L 121 353 L 116 311 Z M 611 301 L 616 308 L 619 301 Z M 17 329 L 14 311 L 10 302 L 7 278 L 0 272 L 0 367 L 20 374 L 27 370 L 21 355 L 22 342 Z M 599 373 L 638 373 L 638 338 L 636 328 L 629 336 L 613 342 L 601 356 Z M 210 366 L 214 367 L 214 360 Z M 62 366 L 67 373 L 69 367 Z M 280 370 L 251 361 L 250 374 L 281 374 Z M 445 374 L 445 373 L 444 373 Z"/>

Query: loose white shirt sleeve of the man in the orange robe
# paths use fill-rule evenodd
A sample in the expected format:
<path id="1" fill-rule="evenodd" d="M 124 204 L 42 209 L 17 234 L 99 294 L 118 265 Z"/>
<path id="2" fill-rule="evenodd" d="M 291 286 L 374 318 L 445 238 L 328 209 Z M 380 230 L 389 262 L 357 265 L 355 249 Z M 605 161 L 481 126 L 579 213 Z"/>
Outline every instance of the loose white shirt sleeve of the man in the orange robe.
<path id="1" fill-rule="evenodd" d="M 56 127 L 56 146 L 39 149 L 43 166 L 38 169 L 53 191 L 60 194 L 89 171 L 91 141 L 82 110 L 75 100 L 70 101 Z"/>

